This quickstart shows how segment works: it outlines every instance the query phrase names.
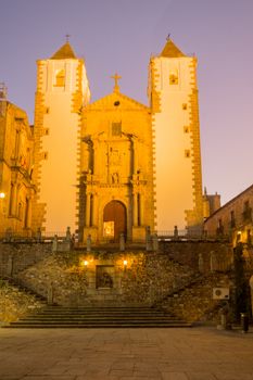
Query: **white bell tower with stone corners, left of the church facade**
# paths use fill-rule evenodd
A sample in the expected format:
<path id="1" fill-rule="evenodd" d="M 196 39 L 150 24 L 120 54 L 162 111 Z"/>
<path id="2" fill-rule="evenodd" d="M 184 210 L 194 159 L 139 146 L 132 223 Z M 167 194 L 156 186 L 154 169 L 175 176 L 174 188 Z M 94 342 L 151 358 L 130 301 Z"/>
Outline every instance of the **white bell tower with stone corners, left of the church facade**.
<path id="1" fill-rule="evenodd" d="M 37 61 L 34 229 L 75 231 L 81 110 L 90 99 L 85 61 L 67 41 Z"/>

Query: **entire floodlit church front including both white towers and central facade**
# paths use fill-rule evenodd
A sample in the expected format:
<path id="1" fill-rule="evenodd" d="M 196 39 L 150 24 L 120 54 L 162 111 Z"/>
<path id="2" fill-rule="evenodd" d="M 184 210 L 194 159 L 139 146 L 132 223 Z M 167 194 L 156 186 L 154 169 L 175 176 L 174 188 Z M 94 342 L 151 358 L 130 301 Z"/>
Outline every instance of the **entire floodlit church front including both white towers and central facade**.
<path id="1" fill-rule="evenodd" d="M 30 231 L 96 242 L 200 232 L 197 59 L 168 39 L 149 65 L 149 105 L 113 92 L 90 103 L 85 61 L 66 41 L 37 62 Z"/>

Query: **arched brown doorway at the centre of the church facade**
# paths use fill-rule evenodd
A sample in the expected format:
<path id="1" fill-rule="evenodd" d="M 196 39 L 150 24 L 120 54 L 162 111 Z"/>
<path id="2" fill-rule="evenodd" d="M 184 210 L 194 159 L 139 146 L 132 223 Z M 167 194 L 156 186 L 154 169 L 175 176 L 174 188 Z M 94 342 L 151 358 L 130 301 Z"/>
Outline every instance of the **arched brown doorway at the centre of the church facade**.
<path id="1" fill-rule="evenodd" d="M 121 233 L 126 237 L 126 207 L 119 201 L 111 201 L 103 210 L 103 236 L 110 241 L 118 241 Z"/>

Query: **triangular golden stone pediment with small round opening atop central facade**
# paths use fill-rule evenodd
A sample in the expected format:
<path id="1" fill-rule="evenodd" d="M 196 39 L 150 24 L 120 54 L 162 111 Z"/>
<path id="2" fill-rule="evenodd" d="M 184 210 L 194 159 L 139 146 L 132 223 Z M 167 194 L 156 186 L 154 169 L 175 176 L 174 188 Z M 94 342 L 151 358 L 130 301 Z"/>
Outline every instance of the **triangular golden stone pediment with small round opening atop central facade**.
<path id="1" fill-rule="evenodd" d="M 101 99 L 85 106 L 84 111 L 91 110 L 136 110 L 136 111 L 150 111 L 150 107 L 139 103 L 138 101 L 123 94 L 122 92 L 112 92 Z"/>

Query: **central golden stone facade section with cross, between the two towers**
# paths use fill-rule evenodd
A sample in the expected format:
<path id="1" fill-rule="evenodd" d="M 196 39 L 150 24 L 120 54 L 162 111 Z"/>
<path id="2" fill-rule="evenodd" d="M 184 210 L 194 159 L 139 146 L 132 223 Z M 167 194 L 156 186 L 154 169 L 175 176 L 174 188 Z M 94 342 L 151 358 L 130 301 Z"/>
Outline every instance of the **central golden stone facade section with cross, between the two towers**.
<path id="1" fill-rule="evenodd" d="M 84 240 L 144 240 L 154 230 L 150 109 L 114 91 L 84 107 L 79 230 Z M 84 232 L 83 232 L 84 231 Z"/>

